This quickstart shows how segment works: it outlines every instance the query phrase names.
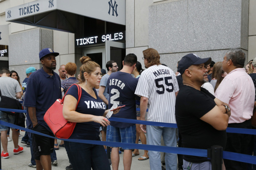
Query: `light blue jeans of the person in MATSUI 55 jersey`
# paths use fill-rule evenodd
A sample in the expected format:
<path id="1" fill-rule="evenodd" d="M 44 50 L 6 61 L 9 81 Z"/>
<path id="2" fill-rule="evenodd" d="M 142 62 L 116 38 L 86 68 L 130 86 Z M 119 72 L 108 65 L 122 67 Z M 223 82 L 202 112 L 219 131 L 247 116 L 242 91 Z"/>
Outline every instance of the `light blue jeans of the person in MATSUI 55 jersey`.
<path id="1" fill-rule="evenodd" d="M 161 145 L 163 136 L 165 146 L 177 147 L 176 129 L 147 125 L 147 144 Z M 161 169 L 160 152 L 148 151 L 151 170 Z M 165 153 L 166 170 L 177 170 L 177 154 Z"/>

